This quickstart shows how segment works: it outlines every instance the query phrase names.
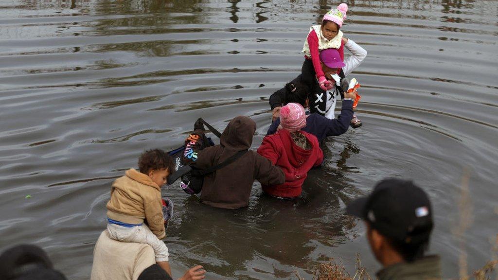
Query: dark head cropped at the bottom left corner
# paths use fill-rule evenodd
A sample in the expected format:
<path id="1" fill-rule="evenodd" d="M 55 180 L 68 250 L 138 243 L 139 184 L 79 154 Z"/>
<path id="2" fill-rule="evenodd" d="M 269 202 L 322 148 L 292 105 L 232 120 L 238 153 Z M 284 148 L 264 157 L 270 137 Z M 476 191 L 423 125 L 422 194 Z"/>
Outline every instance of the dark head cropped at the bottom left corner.
<path id="1" fill-rule="evenodd" d="M 19 245 L 0 255 L 0 279 L 5 280 L 66 280 L 54 270 L 45 251 L 34 245 Z"/>

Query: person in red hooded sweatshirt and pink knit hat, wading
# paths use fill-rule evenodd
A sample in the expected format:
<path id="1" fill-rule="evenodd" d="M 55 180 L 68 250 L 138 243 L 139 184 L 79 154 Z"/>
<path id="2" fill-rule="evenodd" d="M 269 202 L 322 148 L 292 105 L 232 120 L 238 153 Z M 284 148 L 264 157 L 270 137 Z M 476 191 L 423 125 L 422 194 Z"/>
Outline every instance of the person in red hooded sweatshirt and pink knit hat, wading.
<path id="1" fill-rule="evenodd" d="M 257 153 L 279 166 L 285 182 L 279 185 L 262 185 L 263 191 L 277 197 L 292 199 L 301 195 L 308 171 L 323 161 L 323 151 L 316 136 L 301 131 L 306 126 L 304 108 L 289 103 L 280 109 L 280 129 L 266 136 Z"/>

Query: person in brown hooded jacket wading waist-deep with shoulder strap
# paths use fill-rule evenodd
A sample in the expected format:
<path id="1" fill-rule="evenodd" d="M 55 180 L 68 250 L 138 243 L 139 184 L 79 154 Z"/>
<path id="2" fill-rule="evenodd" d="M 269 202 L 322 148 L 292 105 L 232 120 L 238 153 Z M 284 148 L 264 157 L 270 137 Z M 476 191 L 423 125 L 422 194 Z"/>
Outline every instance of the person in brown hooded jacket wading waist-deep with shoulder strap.
<path id="1" fill-rule="evenodd" d="M 239 151 L 249 149 L 255 131 L 253 120 L 245 116 L 235 117 L 223 131 L 220 144 L 198 151 L 197 159 L 190 166 L 208 169 Z M 264 185 L 278 185 L 285 182 L 285 175 L 270 160 L 249 150 L 231 164 L 204 176 L 201 200 L 218 208 L 246 207 L 254 179 Z"/>

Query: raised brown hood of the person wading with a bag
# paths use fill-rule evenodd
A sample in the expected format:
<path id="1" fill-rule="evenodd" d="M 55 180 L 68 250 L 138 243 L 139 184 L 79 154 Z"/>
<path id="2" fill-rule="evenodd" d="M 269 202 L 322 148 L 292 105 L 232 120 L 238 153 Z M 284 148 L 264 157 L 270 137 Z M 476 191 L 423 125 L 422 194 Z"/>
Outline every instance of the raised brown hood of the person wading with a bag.
<path id="1" fill-rule="evenodd" d="M 256 123 L 245 116 L 235 117 L 223 131 L 220 144 L 230 150 L 249 149 L 256 132 Z"/>

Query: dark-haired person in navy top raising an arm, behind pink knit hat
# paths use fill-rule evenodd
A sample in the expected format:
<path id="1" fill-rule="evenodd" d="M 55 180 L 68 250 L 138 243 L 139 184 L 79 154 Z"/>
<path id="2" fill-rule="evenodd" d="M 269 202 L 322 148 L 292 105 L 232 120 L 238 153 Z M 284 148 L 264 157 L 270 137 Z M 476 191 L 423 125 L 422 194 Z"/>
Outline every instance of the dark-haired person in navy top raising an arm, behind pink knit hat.
<path id="1" fill-rule="evenodd" d="M 298 81 L 292 81 L 285 85 L 286 94 L 283 98 L 283 105 L 288 103 L 299 103 L 304 108 L 309 105 L 308 89 Z M 306 126 L 302 129 L 318 139 L 324 140 L 329 136 L 339 136 L 348 131 L 351 120 L 353 119 L 353 102 L 356 98 L 356 90 L 351 93 L 345 93 L 341 114 L 335 119 L 327 119 L 317 113 L 307 112 Z M 270 97 L 271 100 L 271 97 Z M 280 103 L 279 103 L 280 104 Z M 268 129 L 266 135 L 276 133 L 280 126 L 280 119 L 275 119 Z"/>

